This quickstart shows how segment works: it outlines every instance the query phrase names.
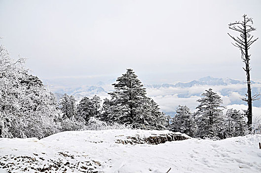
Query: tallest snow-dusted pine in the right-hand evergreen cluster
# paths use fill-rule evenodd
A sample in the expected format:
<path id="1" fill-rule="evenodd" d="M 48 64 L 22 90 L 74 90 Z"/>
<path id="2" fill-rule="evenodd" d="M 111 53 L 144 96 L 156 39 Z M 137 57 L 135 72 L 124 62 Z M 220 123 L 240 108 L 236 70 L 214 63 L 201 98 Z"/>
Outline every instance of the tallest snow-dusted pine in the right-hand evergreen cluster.
<path id="1" fill-rule="evenodd" d="M 223 138 L 223 116 L 222 99 L 211 88 L 201 94 L 203 97 L 198 99 L 199 105 L 196 107 L 197 112 L 197 135 L 200 137 L 220 137 Z"/>

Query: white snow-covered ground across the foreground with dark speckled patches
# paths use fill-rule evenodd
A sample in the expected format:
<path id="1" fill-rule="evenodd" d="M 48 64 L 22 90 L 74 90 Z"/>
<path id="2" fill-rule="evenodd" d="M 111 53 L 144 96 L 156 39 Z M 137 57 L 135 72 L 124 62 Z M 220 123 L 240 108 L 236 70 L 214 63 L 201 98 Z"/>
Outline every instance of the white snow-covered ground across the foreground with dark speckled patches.
<path id="1" fill-rule="evenodd" d="M 118 142 L 131 140 L 128 136 L 146 138 L 169 133 L 88 130 L 61 132 L 41 140 L 0 138 L 0 168 L 13 169 L 12 173 L 167 173 L 170 168 L 168 173 L 261 172 L 261 135 L 220 141 L 190 138 L 158 145 Z M 0 169 L 0 173 L 5 170 Z"/>

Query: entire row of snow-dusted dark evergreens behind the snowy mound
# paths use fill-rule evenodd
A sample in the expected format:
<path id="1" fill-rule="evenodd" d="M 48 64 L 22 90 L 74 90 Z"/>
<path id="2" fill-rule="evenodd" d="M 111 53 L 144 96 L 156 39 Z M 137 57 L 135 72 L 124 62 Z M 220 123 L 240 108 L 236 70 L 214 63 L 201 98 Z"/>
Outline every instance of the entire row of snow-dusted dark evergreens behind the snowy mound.
<path id="1" fill-rule="evenodd" d="M 116 82 L 112 84 L 115 91 L 109 93 L 111 99 L 105 98 L 103 103 L 99 96 L 94 95 L 92 98 L 83 97 L 76 107 L 74 97 L 64 94 L 60 100 L 63 114 L 74 115 L 85 124 L 95 117 L 107 123 L 131 124 L 133 128 L 147 130 L 168 129 L 201 138 L 224 139 L 249 133 L 245 121 L 247 111 L 228 109 L 223 114 L 223 101 L 211 88 L 197 100 L 199 105 L 194 113 L 186 105 L 179 105 L 176 115 L 171 118 L 146 96 L 146 89 L 132 69 L 127 69 Z"/>

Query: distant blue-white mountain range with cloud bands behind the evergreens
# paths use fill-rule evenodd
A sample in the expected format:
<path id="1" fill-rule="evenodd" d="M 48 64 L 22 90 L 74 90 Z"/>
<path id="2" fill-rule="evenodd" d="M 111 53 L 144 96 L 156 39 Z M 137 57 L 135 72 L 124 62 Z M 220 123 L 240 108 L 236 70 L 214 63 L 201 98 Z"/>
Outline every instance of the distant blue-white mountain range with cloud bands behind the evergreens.
<path id="1" fill-rule="evenodd" d="M 111 81 L 115 83 L 116 80 Z M 112 84 L 111 83 L 111 84 Z M 261 93 L 261 83 L 251 82 L 252 85 L 252 93 Z M 69 95 L 74 95 L 76 100 L 80 100 L 84 96 L 92 97 L 94 94 L 99 95 L 102 99 L 108 97 L 108 92 L 113 91 L 113 87 L 111 84 L 99 82 L 95 86 L 81 86 L 81 87 L 59 87 L 54 86 L 51 87 L 51 90 L 55 93 L 57 99 L 61 98 L 64 93 Z M 172 84 L 153 84 L 153 85 L 144 85 L 147 88 L 147 93 L 150 97 L 158 101 L 159 105 L 164 107 L 166 103 L 173 102 L 173 100 L 167 100 L 170 97 L 174 98 L 179 102 L 178 99 L 188 100 L 193 103 L 196 102 L 196 98 L 201 97 L 201 94 L 208 88 L 213 88 L 215 92 L 218 92 L 224 99 L 226 104 L 244 104 L 246 102 L 242 101 L 240 97 L 244 97 L 247 92 L 247 85 L 244 81 L 233 80 L 229 78 L 212 78 L 210 76 L 201 78 L 199 80 L 193 80 L 187 83 L 177 83 L 175 85 Z M 193 99 L 192 99 L 193 98 Z M 165 99 L 165 100 L 164 100 Z M 189 100 L 190 99 L 190 100 Z M 161 105 L 161 104 L 162 105 Z M 186 102 L 187 105 L 189 103 Z M 174 105 L 173 107 L 177 107 L 178 105 Z M 253 102 L 253 106 L 261 107 L 261 101 L 257 100 Z M 174 108 L 173 108 L 174 109 Z M 164 110 L 163 110 L 164 111 Z M 168 111 L 164 111 L 169 113 Z"/>

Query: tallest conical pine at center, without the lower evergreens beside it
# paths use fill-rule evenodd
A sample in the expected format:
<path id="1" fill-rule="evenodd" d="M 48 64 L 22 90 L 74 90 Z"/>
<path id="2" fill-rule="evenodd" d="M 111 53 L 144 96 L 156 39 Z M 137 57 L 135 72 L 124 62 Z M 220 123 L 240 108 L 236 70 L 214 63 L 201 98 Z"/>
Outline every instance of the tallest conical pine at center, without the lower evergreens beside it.
<path id="1" fill-rule="evenodd" d="M 142 110 L 147 106 L 144 101 L 148 100 L 145 88 L 132 69 L 127 69 L 116 82 L 118 83 L 112 84 L 115 91 L 109 93 L 114 104 L 115 120 L 122 124 L 139 124 L 143 119 L 143 113 L 147 113 Z"/>

